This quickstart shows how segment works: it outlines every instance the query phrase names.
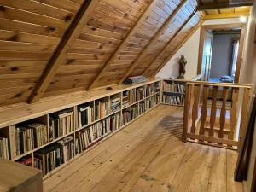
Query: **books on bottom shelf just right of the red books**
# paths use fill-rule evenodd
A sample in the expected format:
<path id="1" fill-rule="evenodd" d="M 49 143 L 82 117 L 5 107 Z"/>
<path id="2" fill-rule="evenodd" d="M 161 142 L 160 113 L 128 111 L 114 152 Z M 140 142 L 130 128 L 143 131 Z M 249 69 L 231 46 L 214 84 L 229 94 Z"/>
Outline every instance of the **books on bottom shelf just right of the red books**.
<path id="1" fill-rule="evenodd" d="M 74 157 L 73 144 L 73 136 L 69 136 L 38 150 L 34 154 L 34 166 L 45 176 Z"/>

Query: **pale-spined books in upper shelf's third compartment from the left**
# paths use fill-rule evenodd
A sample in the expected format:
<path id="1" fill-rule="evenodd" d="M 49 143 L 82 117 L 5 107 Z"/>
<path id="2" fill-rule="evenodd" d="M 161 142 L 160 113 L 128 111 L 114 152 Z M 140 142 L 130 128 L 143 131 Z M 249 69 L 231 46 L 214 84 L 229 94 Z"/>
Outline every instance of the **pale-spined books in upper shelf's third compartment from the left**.
<path id="1" fill-rule="evenodd" d="M 74 131 L 73 116 L 72 108 L 49 114 L 49 141 Z"/>

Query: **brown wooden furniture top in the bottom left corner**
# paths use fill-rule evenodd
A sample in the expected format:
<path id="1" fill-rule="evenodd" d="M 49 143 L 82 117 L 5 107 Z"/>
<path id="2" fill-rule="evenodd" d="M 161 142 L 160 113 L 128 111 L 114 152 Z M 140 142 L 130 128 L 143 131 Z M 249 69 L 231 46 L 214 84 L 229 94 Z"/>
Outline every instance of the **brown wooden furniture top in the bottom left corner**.
<path id="1" fill-rule="evenodd" d="M 30 184 L 42 180 L 42 172 L 30 166 L 0 158 L 0 167 L 1 192 L 24 191 Z"/>

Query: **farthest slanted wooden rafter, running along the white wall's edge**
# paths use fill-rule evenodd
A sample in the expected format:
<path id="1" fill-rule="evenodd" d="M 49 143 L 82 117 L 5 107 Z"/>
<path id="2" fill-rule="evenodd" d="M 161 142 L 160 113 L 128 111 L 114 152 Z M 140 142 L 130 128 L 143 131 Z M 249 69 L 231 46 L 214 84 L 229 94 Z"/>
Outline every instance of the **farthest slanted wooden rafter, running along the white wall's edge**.
<path id="1" fill-rule="evenodd" d="M 188 35 L 186 38 L 184 38 L 183 42 L 177 46 L 177 48 L 172 52 L 172 54 L 169 55 L 169 57 L 168 57 L 159 67 L 157 67 L 157 69 L 155 70 L 155 72 L 154 72 L 154 74 L 153 74 L 152 76 L 155 76 L 157 73 L 159 73 L 160 69 L 161 69 L 162 67 L 164 67 L 164 66 L 166 65 L 166 63 L 172 59 L 172 56 L 175 55 L 179 49 L 181 49 L 181 47 L 183 46 L 183 44 L 185 44 L 185 43 L 189 40 L 189 38 L 190 38 L 190 37 L 195 33 L 195 31 L 203 24 L 204 21 L 205 21 L 205 20 L 202 19 L 202 20 L 191 30 L 191 32 L 189 33 L 189 35 Z"/>

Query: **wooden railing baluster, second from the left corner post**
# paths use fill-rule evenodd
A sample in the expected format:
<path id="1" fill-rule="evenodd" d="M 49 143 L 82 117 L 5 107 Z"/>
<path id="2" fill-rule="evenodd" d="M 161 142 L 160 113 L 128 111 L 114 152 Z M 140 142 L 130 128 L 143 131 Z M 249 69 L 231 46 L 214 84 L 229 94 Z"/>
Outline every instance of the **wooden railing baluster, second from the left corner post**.
<path id="1" fill-rule="evenodd" d="M 208 99 L 208 88 L 209 86 L 204 86 L 203 88 L 203 104 L 201 107 L 201 126 L 200 126 L 200 135 L 205 135 L 205 123 L 207 119 L 207 99 Z"/>

